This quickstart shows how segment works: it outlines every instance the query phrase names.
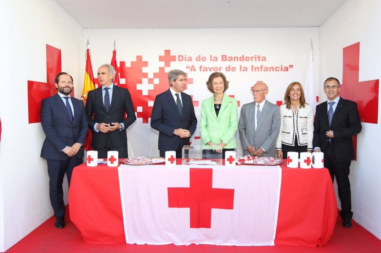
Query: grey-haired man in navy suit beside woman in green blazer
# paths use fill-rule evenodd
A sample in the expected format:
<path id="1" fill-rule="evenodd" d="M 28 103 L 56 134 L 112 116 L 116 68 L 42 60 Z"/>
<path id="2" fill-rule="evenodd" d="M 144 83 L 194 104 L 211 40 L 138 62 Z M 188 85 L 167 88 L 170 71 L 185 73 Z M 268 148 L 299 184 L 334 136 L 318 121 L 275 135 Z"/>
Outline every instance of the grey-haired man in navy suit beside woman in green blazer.
<path id="1" fill-rule="evenodd" d="M 155 98 L 152 108 L 151 127 L 159 131 L 158 149 L 160 156 L 165 151 L 176 151 L 181 158 L 184 145 L 189 145 L 189 138 L 196 130 L 197 118 L 191 96 L 184 93 L 186 74 L 181 70 L 168 73 L 170 88 Z"/>

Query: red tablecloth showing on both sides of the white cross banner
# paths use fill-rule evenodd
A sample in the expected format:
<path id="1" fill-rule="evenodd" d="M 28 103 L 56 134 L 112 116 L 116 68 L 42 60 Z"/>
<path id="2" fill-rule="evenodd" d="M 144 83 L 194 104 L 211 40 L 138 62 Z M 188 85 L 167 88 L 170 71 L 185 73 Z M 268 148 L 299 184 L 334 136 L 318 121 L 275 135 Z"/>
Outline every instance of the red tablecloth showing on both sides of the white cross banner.
<path id="1" fill-rule="evenodd" d="M 178 163 L 180 161 L 177 161 Z M 181 163 L 181 162 L 180 162 Z M 335 228 L 337 205 L 327 169 L 289 169 L 283 163 L 275 244 L 322 246 Z M 117 167 L 81 164 L 69 189 L 70 220 L 83 241 L 125 242 Z"/>

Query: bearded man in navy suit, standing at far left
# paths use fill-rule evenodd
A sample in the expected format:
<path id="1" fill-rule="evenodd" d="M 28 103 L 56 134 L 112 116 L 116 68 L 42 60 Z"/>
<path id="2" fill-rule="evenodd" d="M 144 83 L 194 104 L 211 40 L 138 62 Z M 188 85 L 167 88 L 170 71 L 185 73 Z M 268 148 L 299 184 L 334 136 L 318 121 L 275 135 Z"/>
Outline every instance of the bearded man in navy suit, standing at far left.
<path id="1" fill-rule="evenodd" d="M 50 202 L 56 228 L 64 228 L 65 204 L 62 181 L 67 181 L 73 168 L 83 162 L 83 143 L 87 133 L 87 117 L 83 102 L 70 97 L 73 78 L 61 72 L 56 76 L 57 94 L 41 102 L 41 125 L 46 135 L 41 157 L 48 163 Z"/>

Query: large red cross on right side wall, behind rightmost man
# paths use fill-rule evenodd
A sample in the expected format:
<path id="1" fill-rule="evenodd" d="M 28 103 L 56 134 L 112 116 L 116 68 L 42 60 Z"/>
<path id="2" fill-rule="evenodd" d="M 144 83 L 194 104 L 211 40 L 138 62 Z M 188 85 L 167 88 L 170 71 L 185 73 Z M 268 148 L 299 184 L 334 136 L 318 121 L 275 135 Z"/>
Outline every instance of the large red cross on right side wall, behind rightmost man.
<path id="1" fill-rule="evenodd" d="M 359 82 L 360 42 L 343 48 L 343 82 L 340 96 L 355 101 L 360 120 L 364 123 L 378 123 L 379 79 Z M 357 135 L 352 137 L 355 160 L 357 156 Z"/>

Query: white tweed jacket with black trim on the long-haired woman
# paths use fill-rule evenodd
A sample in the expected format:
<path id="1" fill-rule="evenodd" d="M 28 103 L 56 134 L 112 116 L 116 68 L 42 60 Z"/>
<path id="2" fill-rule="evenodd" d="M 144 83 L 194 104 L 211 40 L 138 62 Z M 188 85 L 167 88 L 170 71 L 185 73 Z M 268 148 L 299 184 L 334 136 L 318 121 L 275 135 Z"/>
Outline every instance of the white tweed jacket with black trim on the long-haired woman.
<path id="1" fill-rule="evenodd" d="M 287 109 L 285 104 L 280 106 L 280 131 L 275 149 L 282 150 L 282 143 L 294 146 L 295 134 L 299 146 L 307 145 L 307 150 L 312 150 L 314 112 L 309 104 L 304 108 L 298 106 L 296 114 L 292 108 Z"/>

